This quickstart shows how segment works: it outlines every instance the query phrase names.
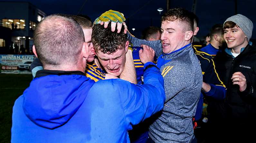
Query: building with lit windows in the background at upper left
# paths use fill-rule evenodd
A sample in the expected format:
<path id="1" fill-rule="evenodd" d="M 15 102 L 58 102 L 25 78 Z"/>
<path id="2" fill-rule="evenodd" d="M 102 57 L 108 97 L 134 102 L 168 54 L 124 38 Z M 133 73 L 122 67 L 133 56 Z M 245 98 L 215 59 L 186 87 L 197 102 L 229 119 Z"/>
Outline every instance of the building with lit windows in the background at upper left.
<path id="1" fill-rule="evenodd" d="M 19 48 L 23 45 L 31 49 L 33 30 L 46 14 L 29 2 L 0 2 L 0 5 L 0 47 L 9 48 L 13 42 Z"/>

